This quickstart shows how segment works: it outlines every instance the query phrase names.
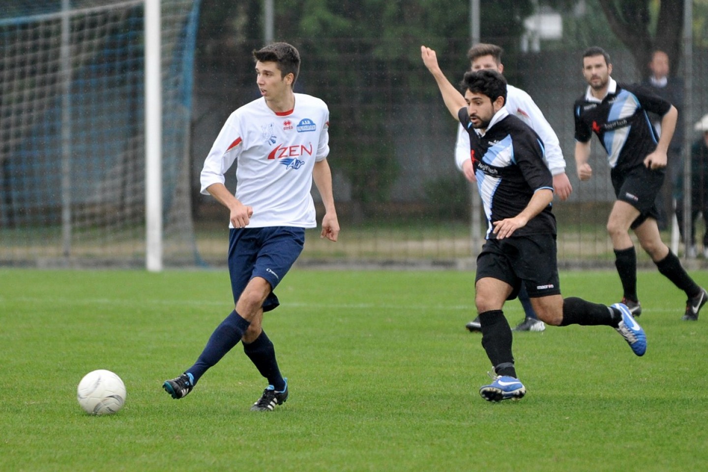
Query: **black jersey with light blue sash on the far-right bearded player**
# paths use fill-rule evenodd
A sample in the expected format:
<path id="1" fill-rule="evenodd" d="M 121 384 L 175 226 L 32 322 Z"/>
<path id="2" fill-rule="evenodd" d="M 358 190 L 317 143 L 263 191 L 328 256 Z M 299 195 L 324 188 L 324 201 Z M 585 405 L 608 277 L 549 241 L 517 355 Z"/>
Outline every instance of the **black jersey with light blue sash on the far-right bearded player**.
<path id="1" fill-rule="evenodd" d="M 575 139 L 586 143 L 594 132 L 613 171 L 629 171 L 643 166 L 644 158 L 656 149 L 658 136 L 647 112 L 663 116 L 670 108 L 671 103 L 644 86 L 617 84 L 610 79 L 603 100 L 593 99 L 589 93 L 576 100 Z"/>

